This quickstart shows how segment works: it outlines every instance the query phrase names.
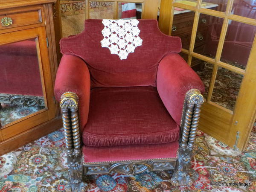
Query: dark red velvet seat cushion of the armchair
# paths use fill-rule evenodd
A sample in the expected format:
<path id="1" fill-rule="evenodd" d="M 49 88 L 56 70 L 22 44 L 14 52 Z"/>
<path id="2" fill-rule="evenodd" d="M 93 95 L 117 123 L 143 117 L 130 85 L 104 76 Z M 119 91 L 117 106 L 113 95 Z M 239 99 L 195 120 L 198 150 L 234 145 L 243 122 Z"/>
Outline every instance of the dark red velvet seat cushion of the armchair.
<path id="1" fill-rule="evenodd" d="M 156 87 L 94 88 L 82 139 L 88 146 L 170 143 L 180 128 Z"/>

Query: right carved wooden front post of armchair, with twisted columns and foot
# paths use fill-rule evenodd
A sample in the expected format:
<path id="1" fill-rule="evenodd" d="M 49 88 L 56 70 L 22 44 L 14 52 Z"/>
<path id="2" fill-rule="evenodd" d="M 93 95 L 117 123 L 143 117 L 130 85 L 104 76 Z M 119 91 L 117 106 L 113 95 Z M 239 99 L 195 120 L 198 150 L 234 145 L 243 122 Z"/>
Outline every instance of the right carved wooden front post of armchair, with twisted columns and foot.
<path id="1" fill-rule="evenodd" d="M 185 115 L 182 123 L 182 137 L 178 163 L 171 182 L 174 186 L 191 186 L 198 174 L 191 168 L 192 150 L 204 97 L 197 89 L 189 90 L 185 98 Z"/>

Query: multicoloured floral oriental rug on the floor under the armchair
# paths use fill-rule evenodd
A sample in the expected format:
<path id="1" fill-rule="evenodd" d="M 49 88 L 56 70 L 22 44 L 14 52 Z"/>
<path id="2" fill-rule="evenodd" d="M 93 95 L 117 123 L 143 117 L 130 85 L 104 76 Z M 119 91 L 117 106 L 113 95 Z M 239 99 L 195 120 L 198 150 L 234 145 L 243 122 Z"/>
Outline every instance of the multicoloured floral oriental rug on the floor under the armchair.
<path id="1" fill-rule="evenodd" d="M 68 183 L 63 129 L 0 157 L 0 192 L 64 192 Z M 197 131 L 192 169 L 198 178 L 190 187 L 174 187 L 172 171 L 138 175 L 87 176 L 90 192 L 256 191 L 256 123 L 245 150 L 239 154 Z M 215 182 L 248 183 L 216 186 Z M 246 184 L 245 184 L 246 185 Z"/>

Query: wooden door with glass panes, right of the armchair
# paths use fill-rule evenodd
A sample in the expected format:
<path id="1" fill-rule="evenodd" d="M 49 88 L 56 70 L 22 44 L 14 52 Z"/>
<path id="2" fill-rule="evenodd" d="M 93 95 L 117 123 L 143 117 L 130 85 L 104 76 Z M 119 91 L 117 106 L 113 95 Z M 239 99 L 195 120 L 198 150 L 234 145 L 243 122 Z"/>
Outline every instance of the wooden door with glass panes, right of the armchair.
<path id="1" fill-rule="evenodd" d="M 188 43 L 181 54 L 191 66 L 195 61 L 203 64 L 195 69 L 199 76 L 206 67 L 210 70 L 199 129 L 240 150 L 256 117 L 256 6 L 248 2 L 161 0 L 159 18 L 160 29 L 168 35 L 177 34 L 177 23 L 188 32 L 181 36 Z M 188 13 L 191 22 L 177 21 L 178 14 Z M 220 85 L 226 89 L 218 89 Z"/>

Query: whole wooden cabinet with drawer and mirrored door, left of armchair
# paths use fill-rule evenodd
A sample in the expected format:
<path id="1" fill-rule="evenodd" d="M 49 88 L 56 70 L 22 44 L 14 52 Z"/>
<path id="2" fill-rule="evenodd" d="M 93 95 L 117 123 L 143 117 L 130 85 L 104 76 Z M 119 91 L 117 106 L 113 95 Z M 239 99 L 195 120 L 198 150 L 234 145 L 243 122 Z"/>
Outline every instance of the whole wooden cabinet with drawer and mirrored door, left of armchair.
<path id="1" fill-rule="evenodd" d="M 0 3 L 0 155 L 61 128 L 53 94 L 54 2 Z"/>

